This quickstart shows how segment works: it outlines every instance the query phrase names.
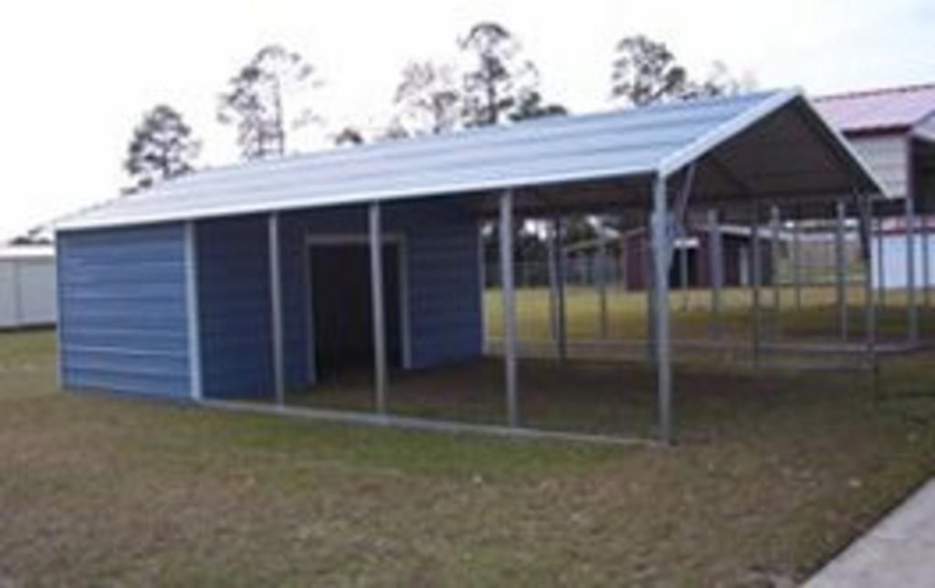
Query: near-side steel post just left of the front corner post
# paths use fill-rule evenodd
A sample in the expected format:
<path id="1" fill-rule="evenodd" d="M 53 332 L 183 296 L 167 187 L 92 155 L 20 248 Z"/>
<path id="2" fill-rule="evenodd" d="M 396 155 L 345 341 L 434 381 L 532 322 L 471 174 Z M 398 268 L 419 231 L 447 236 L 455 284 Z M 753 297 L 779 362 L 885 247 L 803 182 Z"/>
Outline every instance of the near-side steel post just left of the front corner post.
<path id="1" fill-rule="evenodd" d="M 507 423 L 520 425 L 516 344 L 516 293 L 513 289 L 513 193 L 500 194 L 500 292 L 503 296 L 503 364 Z"/>

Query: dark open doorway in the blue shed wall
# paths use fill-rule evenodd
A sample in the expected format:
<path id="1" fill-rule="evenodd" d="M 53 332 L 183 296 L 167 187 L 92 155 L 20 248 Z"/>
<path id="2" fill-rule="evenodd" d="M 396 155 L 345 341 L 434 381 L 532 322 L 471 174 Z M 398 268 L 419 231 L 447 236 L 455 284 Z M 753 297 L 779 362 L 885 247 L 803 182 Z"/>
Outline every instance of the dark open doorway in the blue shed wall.
<path id="1" fill-rule="evenodd" d="M 402 363 L 399 251 L 396 243 L 385 243 L 382 247 L 386 352 L 391 367 Z M 372 369 L 373 303 L 367 244 L 310 245 L 309 277 L 318 379 Z"/>

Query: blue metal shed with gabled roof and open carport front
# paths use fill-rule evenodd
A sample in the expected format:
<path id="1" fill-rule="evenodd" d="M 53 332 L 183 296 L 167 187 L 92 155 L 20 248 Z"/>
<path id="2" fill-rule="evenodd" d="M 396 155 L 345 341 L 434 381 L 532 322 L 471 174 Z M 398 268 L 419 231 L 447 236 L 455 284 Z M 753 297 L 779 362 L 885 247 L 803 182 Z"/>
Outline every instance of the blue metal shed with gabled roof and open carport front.
<path id="1" fill-rule="evenodd" d="M 378 408 L 385 407 L 388 364 L 414 369 L 482 353 L 484 218 L 500 220 L 506 280 L 514 208 L 549 216 L 626 211 L 638 225 L 649 211 L 672 218 L 689 193 L 749 211 L 762 198 L 878 192 L 859 158 L 798 92 L 209 169 L 58 227 L 62 383 L 194 400 L 281 400 L 286 388 L 321 375 L 316 344 L 325 323 L 344 313 L 344 326 L 360 330 L 352 325 L 361 308 L 352 290 L 357 280 L 372 308 L 367 351 Z M 657 275 L 668 276 L 669 223 L 652 228 Z M 334 263 L 338 253 L 344 261 Z M 361 260 L 369 267 L 354 278 Z M 317 276 L 313 262 L 331 264 L 331 273 Z M 346 280 L 345 290 L 320 292 L 328 280 Z M 514 410 L 511 295 L 505 281 L 506 388 Z M 316 296 L 330 300 L 324 315 L 316 312 Z M 358 311 L 349 312 L 353 304 Z M 656 311 L 666 404 L 668 309 Z M 352 350 L 355 341 L 344 343 L 349 347 L 332 351 Z"/>

